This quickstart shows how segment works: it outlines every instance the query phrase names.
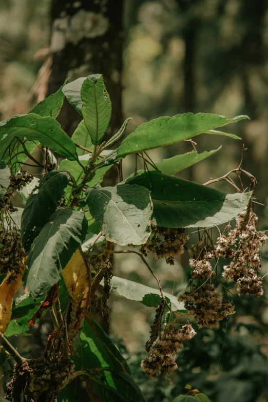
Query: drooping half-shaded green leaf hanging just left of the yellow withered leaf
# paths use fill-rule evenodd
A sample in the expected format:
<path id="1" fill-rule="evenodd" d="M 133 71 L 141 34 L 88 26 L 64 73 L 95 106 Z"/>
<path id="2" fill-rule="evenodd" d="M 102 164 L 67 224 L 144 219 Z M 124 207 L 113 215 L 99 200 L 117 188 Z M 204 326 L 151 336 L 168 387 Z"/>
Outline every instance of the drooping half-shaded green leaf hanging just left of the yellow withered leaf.
<path id="1" fill-rule="evenodd" d="M 45 224 L 27 258 L 26 288 L 37 299 L 60 280 L 72 254 L 84 241 L 87 221 L 83 212 L 59 208 Z"/>

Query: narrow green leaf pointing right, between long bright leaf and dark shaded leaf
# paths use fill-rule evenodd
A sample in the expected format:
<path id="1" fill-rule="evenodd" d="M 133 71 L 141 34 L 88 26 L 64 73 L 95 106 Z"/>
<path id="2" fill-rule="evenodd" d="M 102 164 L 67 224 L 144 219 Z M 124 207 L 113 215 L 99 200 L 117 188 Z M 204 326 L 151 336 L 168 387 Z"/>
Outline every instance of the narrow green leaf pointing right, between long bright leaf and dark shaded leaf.
<path id="1" fill-rule="evenodd" d="M 156 163 L 156 166 L 159 170 L 164 173 L 165 175 L 172 176 L 178 171 L 186 169 L 189 166 L 195 165 L 196 163 L 203 161 L 204 159 L 208 158 L 209 156 L 215 154 L 215 152 L 219 151 L 221 146 L 218 149 L 214 149 L 212 151 L 204 151 L 201 154 L 198 152 L 187 152 L 186 154 L 176 155 L 172 158 L 163 159 L 162 162 Z M 154 167 L 148 165 L 149 170 L 155 170 Z M 138 175 L 142 175 L 144 170 L 138 170 Z M 130 175 L 128 178 L 133 177 L 134 174 Z"/>

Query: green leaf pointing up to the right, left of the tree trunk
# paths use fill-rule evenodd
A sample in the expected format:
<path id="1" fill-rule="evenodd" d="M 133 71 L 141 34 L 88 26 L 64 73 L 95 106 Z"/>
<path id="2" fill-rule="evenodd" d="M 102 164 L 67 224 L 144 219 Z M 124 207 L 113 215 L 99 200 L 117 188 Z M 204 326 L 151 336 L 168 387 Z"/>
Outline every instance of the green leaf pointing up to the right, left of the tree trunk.
<path id="1" fill-rule="evenodd" d="M 63 87 L 64 85 L 62 85 L 58 91 L 52 93 L 48 98 L 39 102 L 32 110 L 29 111 L 29 113 L 36 113 L 41 117 L 51 116 L 55 119 L 60 113 L 65 98 L 65 95 L 62 91 Z"/>

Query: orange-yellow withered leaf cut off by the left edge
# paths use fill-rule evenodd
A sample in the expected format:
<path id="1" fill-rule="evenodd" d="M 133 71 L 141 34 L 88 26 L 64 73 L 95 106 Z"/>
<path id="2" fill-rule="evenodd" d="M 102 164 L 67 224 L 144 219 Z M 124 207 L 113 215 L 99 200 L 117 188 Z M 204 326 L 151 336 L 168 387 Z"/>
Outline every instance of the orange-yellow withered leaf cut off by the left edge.
<path id="1" fill-rule="evenodd" d="M 26 269 L 25 258 L 23 259 L 21 272 L 14 274 L 8 272 L 6 278 L 0 285 L 0 332 L 4 334 L 11 319 L 13 296 L 22 284 L 22 277 Z M 13 276 L 9 283 L 9 277 Z"/>

